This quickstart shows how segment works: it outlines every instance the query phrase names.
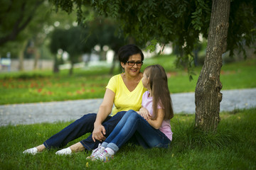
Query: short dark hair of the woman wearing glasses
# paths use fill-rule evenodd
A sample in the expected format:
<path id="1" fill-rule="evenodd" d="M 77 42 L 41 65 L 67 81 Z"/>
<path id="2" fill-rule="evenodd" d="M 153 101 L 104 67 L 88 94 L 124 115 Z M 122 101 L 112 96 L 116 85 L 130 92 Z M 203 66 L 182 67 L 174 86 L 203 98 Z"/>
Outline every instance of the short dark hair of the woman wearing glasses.
<path id="1" fill-rule="evenodd" d="M 124 45 L 123 47 L 120 47 L 118 51 L 118 59 L 120 62 L 126 63 L 129 60 L 130 56 L 137 54 L 141 55 L 143 61 L 144 55 L 142 50 L 139 49 L 139 47 L 133 44 Z"/>

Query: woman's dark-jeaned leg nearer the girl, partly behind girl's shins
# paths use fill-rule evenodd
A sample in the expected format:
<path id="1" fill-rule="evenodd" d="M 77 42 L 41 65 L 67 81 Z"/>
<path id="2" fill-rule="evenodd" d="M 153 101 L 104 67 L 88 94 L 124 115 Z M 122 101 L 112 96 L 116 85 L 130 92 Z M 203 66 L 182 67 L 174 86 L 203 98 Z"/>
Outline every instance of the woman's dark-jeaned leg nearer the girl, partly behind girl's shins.
<path id="1" fill-rule="evenodd" d="M 112 116 L 112 118 L 110 118 L 110 119 L 106 120 L 104 123 L 102 123 L 102 125 L 105 127 L 105 130 L 106 130 L 105 137 L 108 137 L 110 135 L 110 133 L 112 134 L 112 131 L 116 127 L 117 123 L 119 123 L 119 121 L 123 118 L 125 113 L 126 113 L 126 111 L 121 111 L 121 112 L 117 113 L 116 115 Z M 100 144 L 100 141 L 96 140 L 96 142 L 94 142 L 92 140 L 92 134 L 91 134 L 85 140 L 80 141 L 80 143 L 85 149 L 90 151 L 92 149 L 96 149 L 98 147 L 98 145 Z"/>

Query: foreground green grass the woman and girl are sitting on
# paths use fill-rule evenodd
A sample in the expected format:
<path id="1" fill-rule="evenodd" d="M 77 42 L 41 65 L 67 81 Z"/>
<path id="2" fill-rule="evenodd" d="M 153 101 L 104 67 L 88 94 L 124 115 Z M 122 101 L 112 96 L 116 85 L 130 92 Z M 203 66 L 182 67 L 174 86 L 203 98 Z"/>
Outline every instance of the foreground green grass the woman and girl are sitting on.
<path id="1" fill-rule="evenodd" d="M 220 118 L 218 131 L 206 134 L 193 129 L 194 115 L 175 115 L 169 149 L 126 145 L 107 163 L 86 160 L 87 152 L 22 154 L 70 122 L 0 127 L 0 169 L 256 169 L 256 108 L 223 112 Z"/>

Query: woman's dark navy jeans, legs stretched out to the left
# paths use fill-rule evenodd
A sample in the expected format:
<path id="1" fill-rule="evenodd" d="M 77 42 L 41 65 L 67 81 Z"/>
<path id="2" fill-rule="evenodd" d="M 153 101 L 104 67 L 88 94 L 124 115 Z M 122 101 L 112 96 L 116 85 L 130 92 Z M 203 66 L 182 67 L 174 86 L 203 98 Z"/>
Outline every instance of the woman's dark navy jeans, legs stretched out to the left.
<path id="1" fill-rule="evenodd" d="M 108 137 L 112 130 L 114 130 L 114 127 L 117 125 L 117 123 L 119 123 L 119 120 L 122 119 L 124 113 L 126 113 L 126 111 L 119 112 L 114 116 L 107 116 L 105 121 L 102 123 L 102 125 L 106 129 L 105 137 Z M 96 113 L 83 115 L 82 118 L 75 120 L 75 122 L 71 123 L 66 128 L 50 137 L 48 140 L 46 140 L 46 142 L 43 142 L 43 145 L 45 145 L 47 149 L 50 149 L 52 147 L 65 147 L 68 142 L 75 140 L 82 135 L 85 135 L 87 132 L 92 132 L 94 129 L 96 116 Z M 100 141 L 98 140 L 96 140 L 96 142 L 93 142 L 92 135 L 80 142 L 87 150 L 97 148 L 100 143 Z"/>

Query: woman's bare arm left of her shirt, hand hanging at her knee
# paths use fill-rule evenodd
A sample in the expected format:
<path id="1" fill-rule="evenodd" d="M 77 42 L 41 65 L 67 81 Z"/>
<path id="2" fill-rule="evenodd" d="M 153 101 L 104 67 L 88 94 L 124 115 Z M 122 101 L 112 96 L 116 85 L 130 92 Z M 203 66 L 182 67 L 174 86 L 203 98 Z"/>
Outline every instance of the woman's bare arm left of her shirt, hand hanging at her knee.
<path id="1" fill-rule="evenodd" d="M 112 106 L 114 103 L 114 92 L 110 89 L 106 89 L 105 96 L 103 98 L 102 104 L 100 105 L 97 117 L 94 123 L 94 129 L 92 132 L 92 140 L 100 140 L 101 142 L 106 139 L 104 136 L 106 130 L 102 125 L 102 122 L 107 118 L 107 115 L 110 115 L 112 111 Z"/>

